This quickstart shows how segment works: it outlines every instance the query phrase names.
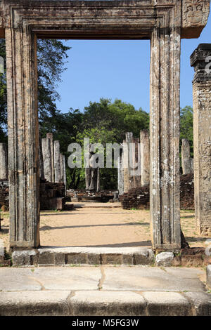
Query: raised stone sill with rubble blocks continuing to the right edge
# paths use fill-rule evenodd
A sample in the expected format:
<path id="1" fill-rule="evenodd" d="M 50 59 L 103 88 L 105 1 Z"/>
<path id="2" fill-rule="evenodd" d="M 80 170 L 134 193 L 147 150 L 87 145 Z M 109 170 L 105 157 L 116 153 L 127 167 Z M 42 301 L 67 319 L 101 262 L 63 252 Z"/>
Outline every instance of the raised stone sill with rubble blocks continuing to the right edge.
<path id="1" fill-rule="evenodd" d="M 204 267 L 211 263 L 204 249 L 160 252 L 146 247 L 72 246 L 14 251 L 13 266 L 30 265 L 156 265 Z"/>

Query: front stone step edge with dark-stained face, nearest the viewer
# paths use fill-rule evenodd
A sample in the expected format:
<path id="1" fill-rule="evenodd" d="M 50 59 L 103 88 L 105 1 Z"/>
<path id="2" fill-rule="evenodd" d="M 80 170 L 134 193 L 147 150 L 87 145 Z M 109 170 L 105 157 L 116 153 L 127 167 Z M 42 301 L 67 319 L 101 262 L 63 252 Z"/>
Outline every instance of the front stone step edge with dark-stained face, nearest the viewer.
<path id="1" fill-rule="evenodd" d="M 211 316 L 203 292 L 0 292 L 1 316 Z"/>

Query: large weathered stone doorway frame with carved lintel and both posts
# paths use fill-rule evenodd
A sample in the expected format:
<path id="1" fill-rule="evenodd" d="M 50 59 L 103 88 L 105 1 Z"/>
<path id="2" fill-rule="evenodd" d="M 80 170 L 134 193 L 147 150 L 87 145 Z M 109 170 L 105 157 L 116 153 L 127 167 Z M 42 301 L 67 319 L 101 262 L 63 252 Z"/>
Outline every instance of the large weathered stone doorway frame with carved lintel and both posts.
<path id="1" fill-rule="evenodd" d="M 151 39 L 151 237 L 180 249 L 181 38 L 197 38 L 210 0 L 1 1 L 6 38 L 11 249 L 39 247 L 37 38 Z"/>

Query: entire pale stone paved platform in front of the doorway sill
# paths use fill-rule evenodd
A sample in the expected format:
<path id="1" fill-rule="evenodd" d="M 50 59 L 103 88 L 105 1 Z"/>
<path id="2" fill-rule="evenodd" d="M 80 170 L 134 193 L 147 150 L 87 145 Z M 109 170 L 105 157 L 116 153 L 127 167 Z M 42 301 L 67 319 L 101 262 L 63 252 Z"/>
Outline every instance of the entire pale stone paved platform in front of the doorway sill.
<path id="1" fill-rule="evenodd" d="M 202 275 L 138 265 L 0 268 L 0 315 L 211 316 Z"/>

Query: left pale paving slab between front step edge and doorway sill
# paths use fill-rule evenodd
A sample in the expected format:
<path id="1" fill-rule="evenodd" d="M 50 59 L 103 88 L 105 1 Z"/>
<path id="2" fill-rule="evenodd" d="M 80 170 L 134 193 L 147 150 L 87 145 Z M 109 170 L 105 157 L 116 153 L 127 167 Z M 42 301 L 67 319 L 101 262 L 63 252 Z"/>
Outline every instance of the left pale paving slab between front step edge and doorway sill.
<path id="1" fill-rule="evenodd" d="M 0 268 L 1 291 L 97 290 L 100 268 Z"/>

